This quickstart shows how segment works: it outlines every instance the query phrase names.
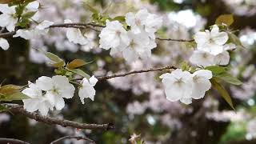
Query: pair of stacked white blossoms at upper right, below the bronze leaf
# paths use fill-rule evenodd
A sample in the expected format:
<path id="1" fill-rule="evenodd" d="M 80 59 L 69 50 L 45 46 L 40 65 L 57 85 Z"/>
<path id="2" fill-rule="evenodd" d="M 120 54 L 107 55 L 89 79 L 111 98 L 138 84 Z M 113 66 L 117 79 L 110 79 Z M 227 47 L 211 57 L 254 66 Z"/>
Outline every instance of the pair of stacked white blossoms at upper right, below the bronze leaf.
<path id="1" fill-rule="evenodd" d="M 197 66 L 227 65 L 230 62 L 230 54 L 227 50 L 234 50 L 234 43 L 228 42 L 228 34 L 219 32 L 217 25 L 205 32 L 198 32 L 194 36 L 197 50 L 190 57 L 190 62 Z"/>

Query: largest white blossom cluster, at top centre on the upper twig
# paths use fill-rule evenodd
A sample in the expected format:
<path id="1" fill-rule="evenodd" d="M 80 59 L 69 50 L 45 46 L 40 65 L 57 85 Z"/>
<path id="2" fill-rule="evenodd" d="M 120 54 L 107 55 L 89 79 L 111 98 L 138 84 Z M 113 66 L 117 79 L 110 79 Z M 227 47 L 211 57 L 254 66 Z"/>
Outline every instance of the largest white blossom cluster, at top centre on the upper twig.
<path id="1" fill-rule="evenodd" d="M 147 10 L 127 13 L 126 30 L 121 22 L 106 20 L 106 27 L 99 34 L 100 47 L 110 50 L 110 55 L 122 53 L 127 62 L 138 58 L 146 59 L 156 47 L 154 33 L 162 26 L 162 18 Z"/>

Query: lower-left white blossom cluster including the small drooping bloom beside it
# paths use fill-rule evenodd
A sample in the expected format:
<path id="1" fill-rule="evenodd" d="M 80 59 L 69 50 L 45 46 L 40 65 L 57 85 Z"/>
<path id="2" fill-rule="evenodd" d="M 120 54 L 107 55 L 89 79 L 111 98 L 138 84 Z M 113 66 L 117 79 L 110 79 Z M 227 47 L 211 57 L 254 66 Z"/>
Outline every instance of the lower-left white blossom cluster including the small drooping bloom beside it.
<path id="1" fill-rule="evenodd" d="M 78 95 L 84 104 L 84 98 L 94 100 L 94 87 L 98 79 L 94 76 L 88 81 L 83 78 Z M 69 79 L 62 75 L 54 77 L 42 76 L 35 83 L 29 82 L 29 87 L 22 90 L 30 98 L 23 99 L 24 108 L 27 111 L 34 112 L 38 110 L 42 115 L 48 114 L 49 110 L 62 110 L 65 106 L 63 98 L 73 98 L 74 86 L 70 84 Z"/>

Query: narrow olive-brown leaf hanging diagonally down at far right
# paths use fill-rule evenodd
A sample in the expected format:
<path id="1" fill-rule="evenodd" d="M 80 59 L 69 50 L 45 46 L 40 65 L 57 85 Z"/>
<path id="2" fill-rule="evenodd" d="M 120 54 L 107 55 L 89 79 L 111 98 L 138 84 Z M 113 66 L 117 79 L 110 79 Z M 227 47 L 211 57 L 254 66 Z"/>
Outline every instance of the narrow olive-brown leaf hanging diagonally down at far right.
<path id="1" fill-rule="evenodd" d="M 225 101 L 230 105 L 230 107 L 234 109 L 233 106 L 233 102 L 232 99 L 230 98 L 230 94 L 226 91 L 226 89 L 220 84 L 218 83 L 215 78 L 211 78 L 210 82 L 212 84 L 212 86 L 214 87 L 215 90 L 217 90 L 219 92 L 219 94 L 221 94 L 222 98 L 225 99 Z"/>

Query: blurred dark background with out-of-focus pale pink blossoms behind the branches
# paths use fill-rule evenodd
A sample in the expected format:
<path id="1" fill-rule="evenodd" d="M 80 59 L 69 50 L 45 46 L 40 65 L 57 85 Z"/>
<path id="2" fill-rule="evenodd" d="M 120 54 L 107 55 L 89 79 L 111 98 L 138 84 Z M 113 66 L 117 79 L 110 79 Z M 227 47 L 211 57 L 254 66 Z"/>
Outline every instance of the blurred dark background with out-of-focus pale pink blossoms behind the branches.
<path id="1" fill-rule="evenodd" d="M 40 14 L 44 20 L 62 23 L 90 22 L 90 10 L 82 0 L 40 0 Z M 75 94 L 66 99 L 62 111 L 50 113 L 54 118 L 66 118 L 76 122 L 114 123 L 115 129 L 74 130 L 69 127 L 48 126 L 22 115 L 0 113 L 0 137 L 18 138 L 31 143 L 45 144 L 65 135 L 85 135 L 97 143 L 130 143 L 132 134 L 140 134 L 146 144 L 154 143 L 256 143 L 256 1 L 255 0 L 91 0 L 86 1 L 111 17 L 136 12 L 146 8 L 164 19 L 158 37 L 190 39 L 198 30 L 208 29 L 221 14 L 234 14 L 230 26 L 246 49 L 234 50 L 230 58 L 230 70 L 240 78 L 242 86 L 229 86 L 236 111 L 214 90 L 205 98 L 185 106 L 166 100 L 158 76 L 162 73 L 146 73 L 112 78 L 95 86 L 94 102 L 86 99 L 82 105 Z M 66 61 L 81 58 L 91 62 L 82 69 L 96 76 L 141 70 L 149 67 L 180 66 L 188 61 L 192 50 L 186 43 L 158 42 L 152 58 L 142 62 L 126 63 L 122 58 L 110 57 L 109 51 L 98 48 L 98 32 L 85 30 L 91 42 L 78 46 L 66 39 L 66 29 L 51 29 L 50 34 L 26 41 L 8 38 L 9 50 L 0 50 L 0 81 L 26 85 L 42 75 L 52 76 L 54 68 L 47 66 L 47 59 L 33 48 L 57 54 Z M 22 102 L 16 102 L 22 104 Z M 64 142 L 63 142 L 64 143 Z M 65 143 L 84 143 L 66 140 Z"/>

